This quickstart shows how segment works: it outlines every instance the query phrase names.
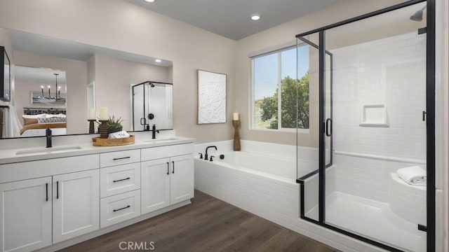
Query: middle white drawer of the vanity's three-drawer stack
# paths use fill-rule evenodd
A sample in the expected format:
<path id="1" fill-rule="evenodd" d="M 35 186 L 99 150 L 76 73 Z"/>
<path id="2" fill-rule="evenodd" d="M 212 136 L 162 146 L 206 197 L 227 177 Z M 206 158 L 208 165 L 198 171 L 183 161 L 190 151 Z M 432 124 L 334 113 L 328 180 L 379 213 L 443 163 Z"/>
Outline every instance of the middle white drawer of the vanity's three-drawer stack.
<path id="1" fill-rule="evenodd" d="M 100 169 L 100 197 L 140 188 L 140 162 Z"/>

